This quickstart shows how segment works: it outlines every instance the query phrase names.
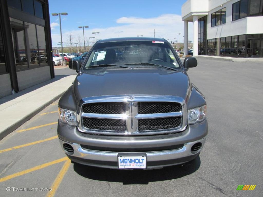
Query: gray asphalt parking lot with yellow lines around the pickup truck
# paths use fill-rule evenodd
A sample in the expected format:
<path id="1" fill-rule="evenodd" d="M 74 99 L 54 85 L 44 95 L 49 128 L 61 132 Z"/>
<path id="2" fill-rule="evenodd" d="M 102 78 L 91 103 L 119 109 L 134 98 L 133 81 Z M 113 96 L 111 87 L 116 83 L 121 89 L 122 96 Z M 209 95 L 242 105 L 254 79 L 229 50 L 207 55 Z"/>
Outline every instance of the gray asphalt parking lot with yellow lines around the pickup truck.
<path id="1" fill-rule="evenodd" d="M 262 196 L 262 66 L 198 58 L 188 74 L 207 100 L 206 144 L 195 160 L 158 170 L 70 163 L 57 139 L 56 101 L 0 141 L 0 196 Z"/>

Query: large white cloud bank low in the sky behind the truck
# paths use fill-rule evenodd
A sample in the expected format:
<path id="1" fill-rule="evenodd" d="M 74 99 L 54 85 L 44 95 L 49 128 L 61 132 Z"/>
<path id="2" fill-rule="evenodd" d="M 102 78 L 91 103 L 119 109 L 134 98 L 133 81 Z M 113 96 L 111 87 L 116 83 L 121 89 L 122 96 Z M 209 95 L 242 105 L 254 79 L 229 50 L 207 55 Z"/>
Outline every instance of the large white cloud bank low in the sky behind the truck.
<path id="1" fill-rule="evenodd" d="M 182 21 L 181 16 L 177 14 L 163 14 L 154 18 L 122 17 L 117 19 L 116 23 L 119 25 L 109 28 L 85 29 L 85 38 L 95 37 L 92 32 L 100 32 L 97 34 L 97 39 L 137 37 L 137 35 L 153 38 L 155 29 L 155 38 L 165 38 L 174 42 L 174 38 L 178 40 L 178 33 L 180 33 L 180 43 L 183 42 L 184 22 Z M 189 23 L 189 40 L 193 40 L 192 29 L 193 23 Z M 63 31 L 63 42 L 66 42 L 67 35 L 70 32 L 72 32 L 73 37 L 74 35 L 83 34 L 83 31 L 80 29 L 73 31 Z M 60 42 L 60 34 L 52 34 L 53 46 L 56 47 L 58 42 Z"/>

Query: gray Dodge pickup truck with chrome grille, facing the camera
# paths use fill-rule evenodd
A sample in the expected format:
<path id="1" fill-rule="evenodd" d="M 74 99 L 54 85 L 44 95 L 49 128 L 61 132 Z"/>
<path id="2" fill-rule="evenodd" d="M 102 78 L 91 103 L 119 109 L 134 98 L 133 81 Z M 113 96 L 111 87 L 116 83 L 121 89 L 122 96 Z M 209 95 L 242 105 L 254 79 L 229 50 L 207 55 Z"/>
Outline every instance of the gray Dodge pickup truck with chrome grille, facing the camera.
<path id="1" fill-rule="evenodd" d="M 206 100 L 165 39 L 99 40 L 58 103 L 57 133 L 73 163 L 154 169 L 188 162 L 204 146 Z"/>

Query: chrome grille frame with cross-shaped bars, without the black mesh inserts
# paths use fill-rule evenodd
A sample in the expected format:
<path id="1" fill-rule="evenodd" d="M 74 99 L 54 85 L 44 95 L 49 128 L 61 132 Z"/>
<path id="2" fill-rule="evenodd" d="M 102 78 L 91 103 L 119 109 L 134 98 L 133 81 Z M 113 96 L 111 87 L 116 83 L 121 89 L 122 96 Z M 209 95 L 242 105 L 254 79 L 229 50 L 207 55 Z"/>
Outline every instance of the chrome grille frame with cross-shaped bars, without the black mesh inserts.
<path id="1" fill-rule="evenodd" d="M 126 110 L 124 114 L 102 114 L 102 113 L 84 113 L 83 105 L 87 103 L 99 102 L 125 102 Z M 181 105 L 181 111 L 169 113 L 150 113 L 138 114 L 138 102 L 177 102 Z M 97 96 L 87 97 L 80 100 L 77 110 L 77 124 L 81 132 L 105 135 L 156 135 L 172 132 L 180 132 L 185 130 L 187 126 L 187 107 L 183 98 L 177 96 L 163 95 L 116 95 L 116 96 Z M 110 119 L 126 119 L 125 131 L 98 130 L 88 129 L 83 126 L 82 118 L 110 118 Z M 181 125 L 176 128 L 158 129 L 149 131 L 138 131 L 138 119 L 148 118 L 167 118 L 181 117 Z"/>

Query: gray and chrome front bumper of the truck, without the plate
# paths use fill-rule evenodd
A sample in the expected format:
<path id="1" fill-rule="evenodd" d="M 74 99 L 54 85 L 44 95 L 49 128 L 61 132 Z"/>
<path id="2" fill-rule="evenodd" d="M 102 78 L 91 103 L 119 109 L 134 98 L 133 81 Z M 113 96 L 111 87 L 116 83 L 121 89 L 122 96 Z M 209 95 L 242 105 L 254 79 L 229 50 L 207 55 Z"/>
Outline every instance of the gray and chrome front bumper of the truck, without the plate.
<path id="1" fill-rule="evenodd" d="M 60 144 L 70 144 L 73 149 L 73 154 L 66 155 L 74 162 L 106 168 L 118 168 L 118 154 L 146 154 L 147 168 L 164 167 L 177 165 L 188 162 L 197 157 L 204 146 L 208 126 L 206 119 L 203 122 L 194 125 L 188 125 L 185 131 L 177 134 L 167 134 L 159 136 L 97 136 L 89 135 L 78 131 L 76 127 L 70 127 L 58 121 L 58 137 Z M 192 152 L 191 147 L 196 143 L 201 143 L 201 148 L 198 151 Z M 169 147 L 172 145 L 183 144 L 179 149 L 164 150 L 164 151 L 149 151 L 149 152 L 117 152 L 107 151 L 107 148 L 121 149 L 127 148 L 154 148 Z M 97 147 L 97 149 L 86 149 L 83 145 Z M 103 151 L 101 150 L 103 149 Z"/>

